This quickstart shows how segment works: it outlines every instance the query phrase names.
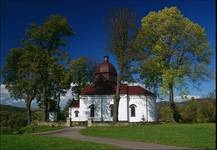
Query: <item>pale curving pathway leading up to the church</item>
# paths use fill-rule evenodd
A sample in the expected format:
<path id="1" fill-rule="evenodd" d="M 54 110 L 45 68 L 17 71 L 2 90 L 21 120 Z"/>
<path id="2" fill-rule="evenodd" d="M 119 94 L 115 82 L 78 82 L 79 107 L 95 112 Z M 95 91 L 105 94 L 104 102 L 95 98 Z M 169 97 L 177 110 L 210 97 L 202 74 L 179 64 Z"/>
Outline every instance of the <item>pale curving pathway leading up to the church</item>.
<path id="1" fill-rule="evenodd" d="M 118 139 L 111 139 L 111 138 L 101 138 L 101 137 L 91 137 L 85 136 L 80 134 L 80 130 L 84 129 L 85 127 L 69 127 L 64 128 L 56 131 L 48 131 L 43 133 L 36 133 L 38 135 L 44 136 L 54 136 L 54 137 L 64 137 L 70 139 L 77 139 L 81 141 L 90 141 L 102 144 L 109 144 L 114 146 L 119 146 L 126 149 L 154 149 L 154 150 L 169 150 L 169 149 L 187 149 L 182 147 L 175 147 L 175 146 L 167 146 L 161 144 L 150 144 L 144 142 L 133 142 L 127 140 L 118 140 Z"/>

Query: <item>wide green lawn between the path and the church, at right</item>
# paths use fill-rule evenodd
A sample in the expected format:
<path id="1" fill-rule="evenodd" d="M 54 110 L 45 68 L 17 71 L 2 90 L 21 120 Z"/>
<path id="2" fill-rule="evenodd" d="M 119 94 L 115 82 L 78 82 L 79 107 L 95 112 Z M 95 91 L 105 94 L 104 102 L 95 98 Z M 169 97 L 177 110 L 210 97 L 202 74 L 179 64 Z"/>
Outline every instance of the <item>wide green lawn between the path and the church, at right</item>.
<path id="1" fill-rule="evenodd" d="M 215 126 L 215 123 L 204 123 L 96 127 L 81 130 L 81 134 L 182 147 L 215 149 Z"/>

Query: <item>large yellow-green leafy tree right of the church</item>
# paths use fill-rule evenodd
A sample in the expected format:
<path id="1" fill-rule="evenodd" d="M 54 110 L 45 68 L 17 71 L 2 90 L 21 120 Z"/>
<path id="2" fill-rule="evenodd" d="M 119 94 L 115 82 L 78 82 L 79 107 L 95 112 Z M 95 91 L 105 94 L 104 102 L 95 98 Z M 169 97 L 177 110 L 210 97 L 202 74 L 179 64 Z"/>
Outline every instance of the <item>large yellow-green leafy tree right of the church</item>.
<path id="1" fill-rule="evenodd" d="M 208 64 L 211 50 L 204 29 L 184 17 L 176 7 L 150 12 L 142 19 L 137 47 L 147 54 L 141 63 L 144 80 L 158 83 L 169 101 L 173 118 L 180 115 L 174 103 L 174 88 L 187 92 L 188 83 L 210 77 Z M 150 75 L 154 74 L 154 78 Z"/>

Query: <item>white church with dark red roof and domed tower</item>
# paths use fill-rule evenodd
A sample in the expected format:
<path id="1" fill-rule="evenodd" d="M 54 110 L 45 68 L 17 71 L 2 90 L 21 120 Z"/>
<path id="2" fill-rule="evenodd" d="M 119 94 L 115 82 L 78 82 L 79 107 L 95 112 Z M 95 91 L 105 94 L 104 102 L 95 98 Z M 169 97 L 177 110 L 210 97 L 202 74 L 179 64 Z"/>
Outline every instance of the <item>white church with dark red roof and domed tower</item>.
<path id="1" fill-rule="evenodd" d="M 69 107 L 71 122 L 110 122 L 113 120 L 113 104 L 116 89 L 117 72 L 109 63 L 108 56 L 97 66 L 95 81 L 107 84 L 96 87 L 87 85 L 81 91 L 79 100 L 74 100 Z M 98 82 L 100 84 L 102 82 Z M 107 86 L 109 85 L 109 86 Z M 118 120 L 120 122 L 155 122 L 156 96 L 139 84 L 122 84 Z"/>

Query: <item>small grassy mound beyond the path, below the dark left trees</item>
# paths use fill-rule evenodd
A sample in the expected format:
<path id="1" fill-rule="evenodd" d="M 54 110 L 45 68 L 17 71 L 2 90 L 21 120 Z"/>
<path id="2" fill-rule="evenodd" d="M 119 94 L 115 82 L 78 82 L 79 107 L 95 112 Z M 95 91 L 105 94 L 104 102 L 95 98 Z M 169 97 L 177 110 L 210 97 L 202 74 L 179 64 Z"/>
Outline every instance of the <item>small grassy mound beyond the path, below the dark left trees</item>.
<path id="1" fill-rule="evenodd" d="M 36 132 L 45 132 L 62 129 L 64 127 L 61 126 L 36 126 L 36 125 L 28 125 L 17 131 L 17 134 L 28 134 L 28 133 L 36 133 Z"/>

